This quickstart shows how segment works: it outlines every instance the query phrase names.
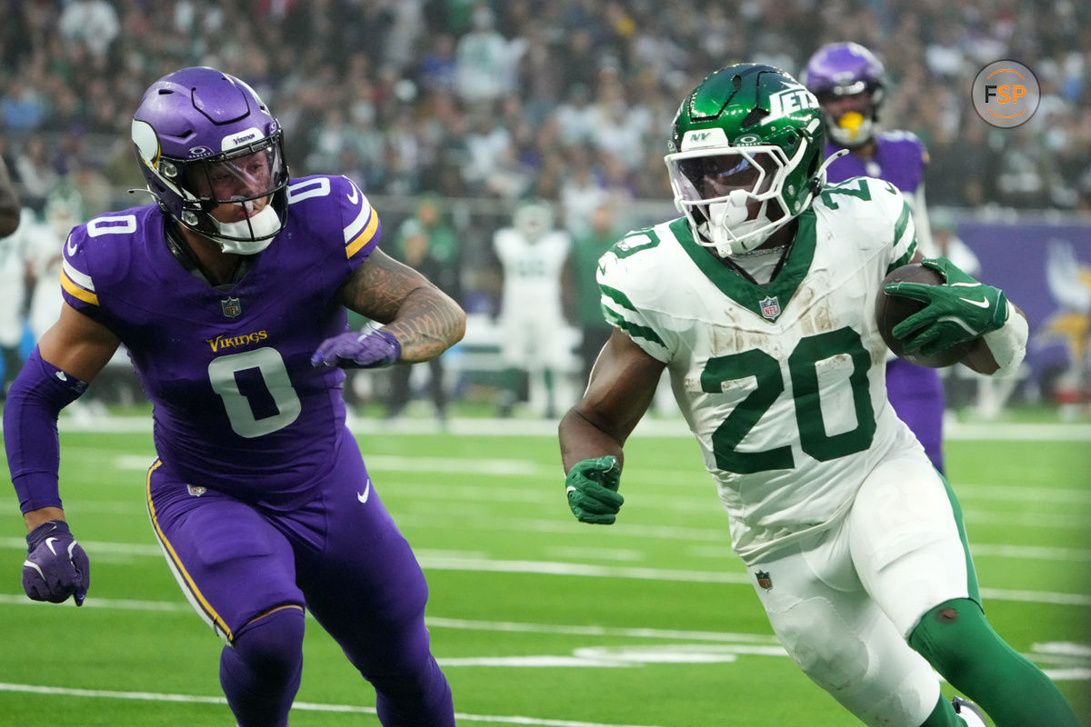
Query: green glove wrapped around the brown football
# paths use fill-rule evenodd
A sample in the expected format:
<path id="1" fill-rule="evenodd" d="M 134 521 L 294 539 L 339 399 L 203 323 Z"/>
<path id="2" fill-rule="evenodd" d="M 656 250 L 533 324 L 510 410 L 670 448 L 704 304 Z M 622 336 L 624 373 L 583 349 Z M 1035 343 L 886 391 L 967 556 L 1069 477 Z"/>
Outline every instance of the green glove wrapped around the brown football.
<path id="1" fill-rule="evenodd" d="M 907 351 L 920 350 L 928 356 L 942 353 L 996 330 L 1007 320 L 1008 299 L 1004 291 L 978 282 L 946 257 L 924 259 L 921 265 L 939 272 L 944 283 L 891 282 L 883 289 L 890 295 L 925 304 L 890 330 Z"/>

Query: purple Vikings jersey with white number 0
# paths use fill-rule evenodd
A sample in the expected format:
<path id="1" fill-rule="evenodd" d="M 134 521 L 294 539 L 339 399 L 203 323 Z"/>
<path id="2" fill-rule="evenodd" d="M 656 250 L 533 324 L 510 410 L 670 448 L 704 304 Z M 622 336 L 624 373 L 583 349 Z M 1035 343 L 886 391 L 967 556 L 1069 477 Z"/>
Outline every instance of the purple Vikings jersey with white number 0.
<path id="1" fill-rule="evenodd" d="M 344 177 L 288 187 L 288 223 L 226 292 L 187 271 L 156 205 L 103 215 L 64 249 L 64 300 L 129 350 L 154 407 L 155 447 L 181 480 L 296 507 L 345 427 L 339 368 L 314 368 L 347 329 L 338 287 L 374 250 L 379 216 Z"/>

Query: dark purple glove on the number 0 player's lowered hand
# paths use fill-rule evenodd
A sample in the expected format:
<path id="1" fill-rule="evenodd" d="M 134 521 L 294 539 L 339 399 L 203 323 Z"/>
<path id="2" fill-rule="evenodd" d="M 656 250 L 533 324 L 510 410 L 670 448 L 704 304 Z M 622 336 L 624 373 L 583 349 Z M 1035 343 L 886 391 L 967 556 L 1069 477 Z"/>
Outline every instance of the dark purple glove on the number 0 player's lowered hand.
<path id="1" fill-rule="evenodd" d="M 68 523 L 44 522 L 26 536 L 23 561 L 23 590 L 33 601 L 59 604 L 69 596 L 82 606 L 91 584 L 91 562 Z"/>

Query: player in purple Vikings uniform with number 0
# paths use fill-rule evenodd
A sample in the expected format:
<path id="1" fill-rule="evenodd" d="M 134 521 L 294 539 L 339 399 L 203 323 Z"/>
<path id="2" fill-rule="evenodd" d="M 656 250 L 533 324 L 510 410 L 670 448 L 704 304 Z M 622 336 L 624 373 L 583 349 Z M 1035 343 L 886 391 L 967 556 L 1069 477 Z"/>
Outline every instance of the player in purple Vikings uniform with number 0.
<path id="1" fill-rule="evenodd" d="M 432 359 L 463 336 L 463 311 L 376 247 L 379 216 L 351 181 L 289 179 L 279 124 L 238 78 L 164 76 L 132 138 L 156 204 L 69 235 L 65 304 L 3 412 L 29 532 L 24 589 L 77 605 L 87 593 L 56 421 L 123 343 L 154 404 L 148 513 L 227 643 L 238 725 L 288 724 L 304 608 L 374 686 L 383 725 L 454 725 L 424 578 L 345 425 L 340 368 Z M 347 332 L 346 307 L 376 326 Z"/>

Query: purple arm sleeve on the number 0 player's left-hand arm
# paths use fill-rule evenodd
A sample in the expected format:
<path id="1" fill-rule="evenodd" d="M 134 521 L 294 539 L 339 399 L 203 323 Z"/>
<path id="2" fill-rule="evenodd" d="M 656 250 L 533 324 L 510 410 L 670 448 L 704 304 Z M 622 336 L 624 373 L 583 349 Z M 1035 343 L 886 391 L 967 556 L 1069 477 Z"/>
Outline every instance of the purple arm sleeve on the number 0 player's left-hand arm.
<path id="1" fill-rule="evenodd" d="M 61 507 L 57 416 L 87 385 L 43 361 L 35 348 L 8 392 L 3 441 L 11 481 L 23 512 Z"/>

